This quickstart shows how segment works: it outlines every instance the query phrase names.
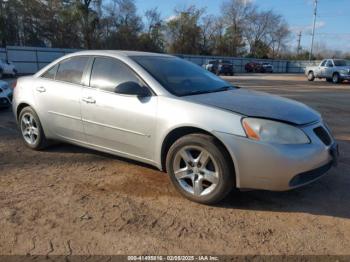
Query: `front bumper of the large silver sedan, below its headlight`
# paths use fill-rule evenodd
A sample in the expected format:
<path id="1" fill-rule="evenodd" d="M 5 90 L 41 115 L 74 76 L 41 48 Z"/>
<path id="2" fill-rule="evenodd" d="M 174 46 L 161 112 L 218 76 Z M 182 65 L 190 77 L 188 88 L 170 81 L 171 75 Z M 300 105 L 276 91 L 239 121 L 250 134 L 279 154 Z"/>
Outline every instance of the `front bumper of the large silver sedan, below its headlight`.
<path id="1" fill-rule="evenodd" d="M 314 132 L 319 126 L 324 127 L 317 123 L 302 128 L 311 140 L 303 145 L 267 144 L 220 132 L 216 135 L 234 161 L 238 188 L 285 191 L 317 180 L 337 162 L 336 142 L 333 138 L 329 145 L 322 142 Z"/>

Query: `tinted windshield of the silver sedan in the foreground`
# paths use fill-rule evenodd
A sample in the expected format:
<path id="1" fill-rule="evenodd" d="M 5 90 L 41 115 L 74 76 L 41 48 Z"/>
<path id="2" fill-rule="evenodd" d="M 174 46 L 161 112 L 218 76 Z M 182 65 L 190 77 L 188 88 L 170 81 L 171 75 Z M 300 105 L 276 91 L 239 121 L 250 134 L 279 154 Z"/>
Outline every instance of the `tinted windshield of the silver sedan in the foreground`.
<path id="1" fill-rule="evenodd" d="M 132 56 L 166 90 L 176 96 L 225 91 L 232 84 L 184 59 L 165 56 Z"/>

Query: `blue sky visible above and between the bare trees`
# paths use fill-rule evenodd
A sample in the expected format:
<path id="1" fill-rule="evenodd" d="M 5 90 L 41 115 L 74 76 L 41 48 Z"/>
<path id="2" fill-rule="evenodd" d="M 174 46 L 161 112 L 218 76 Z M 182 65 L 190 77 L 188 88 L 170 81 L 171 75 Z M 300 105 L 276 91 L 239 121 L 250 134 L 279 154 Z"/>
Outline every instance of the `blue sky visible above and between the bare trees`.
<path id="1" fill-rule="evenodd" d="M 301 44 L 309 48 L 311 42 L 311 25 L 313 0 L 251 0 L 261 10 L 272 9 L 284 16 L 292 29 L 290 45 L 296 46 L 296 35 L 302 31 Z M 158 7 L 163 19 L 174 14 L 174 8 L 190 5 L 204 7 L 208 14 L 220 14 L 223 0 L 136 0 L 139 14 L 145 10 Z M 318 0 L 316 44 L 328 48 L 350 51 L 350 0 Z"/>

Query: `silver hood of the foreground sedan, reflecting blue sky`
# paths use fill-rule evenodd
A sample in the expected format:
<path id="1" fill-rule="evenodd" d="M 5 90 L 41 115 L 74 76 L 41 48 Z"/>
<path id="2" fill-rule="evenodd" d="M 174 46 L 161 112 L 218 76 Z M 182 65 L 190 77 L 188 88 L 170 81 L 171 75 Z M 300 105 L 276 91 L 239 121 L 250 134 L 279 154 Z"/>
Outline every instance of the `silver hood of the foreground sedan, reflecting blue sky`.
<path id="1" fill-rule="evenodd" d="M 241 88 L 183 98 L 245 116 L 274 119 L 296 125 L 304 125 L 321 119 L 318 112 L 302 103 Z"/>

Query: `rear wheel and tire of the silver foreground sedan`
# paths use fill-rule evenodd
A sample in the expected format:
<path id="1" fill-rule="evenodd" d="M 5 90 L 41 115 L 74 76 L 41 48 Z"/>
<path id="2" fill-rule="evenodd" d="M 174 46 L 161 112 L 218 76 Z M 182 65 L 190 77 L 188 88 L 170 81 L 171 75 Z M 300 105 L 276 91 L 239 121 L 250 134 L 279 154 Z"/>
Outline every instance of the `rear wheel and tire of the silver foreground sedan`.
<path id="1" fill-rule="evenodd" d="M 29 106 L 23 108 L 19 115 L 18 123 L 26 146 L 34 150 L 41 150 L 47 147 L 48 141 L 39 117 L 33 108 Z"/>

